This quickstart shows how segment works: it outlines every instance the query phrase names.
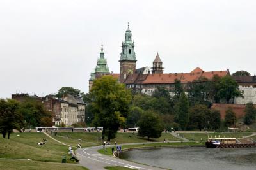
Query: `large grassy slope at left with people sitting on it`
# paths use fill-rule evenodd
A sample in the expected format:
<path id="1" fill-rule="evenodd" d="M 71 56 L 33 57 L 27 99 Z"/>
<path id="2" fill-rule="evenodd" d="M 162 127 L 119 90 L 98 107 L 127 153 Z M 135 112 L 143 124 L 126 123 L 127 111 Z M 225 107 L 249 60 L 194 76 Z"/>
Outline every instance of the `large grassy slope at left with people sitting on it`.
<path id="1" fill-rule="evenodd" d="M 19 135 L 19 136 L 18 136 Z M 47 139 L 45 145 L 37 145 L 44 138 Z M 62 155 L 67 156 L 68 147 L 63 146 L 42 133 L 14 133 L 10 139 L 0 138 L 1 158 L 29 158 L 42 162 L 61 162 Z"/>

